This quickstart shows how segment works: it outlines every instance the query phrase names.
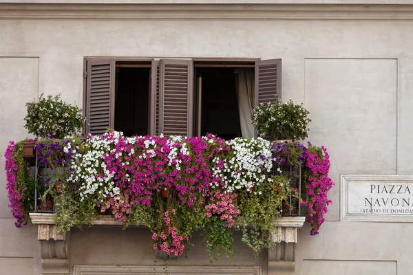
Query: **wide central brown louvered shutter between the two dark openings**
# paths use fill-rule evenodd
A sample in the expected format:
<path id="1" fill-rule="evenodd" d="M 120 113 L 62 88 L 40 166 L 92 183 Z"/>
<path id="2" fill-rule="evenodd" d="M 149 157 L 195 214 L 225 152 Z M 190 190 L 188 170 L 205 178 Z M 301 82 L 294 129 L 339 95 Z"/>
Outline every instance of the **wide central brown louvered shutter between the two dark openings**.
<path id="1" fill-rule="evenodd" d="M 193 133 L 193 63 L 160 61 L 159 132 L 164 135 Z"/>

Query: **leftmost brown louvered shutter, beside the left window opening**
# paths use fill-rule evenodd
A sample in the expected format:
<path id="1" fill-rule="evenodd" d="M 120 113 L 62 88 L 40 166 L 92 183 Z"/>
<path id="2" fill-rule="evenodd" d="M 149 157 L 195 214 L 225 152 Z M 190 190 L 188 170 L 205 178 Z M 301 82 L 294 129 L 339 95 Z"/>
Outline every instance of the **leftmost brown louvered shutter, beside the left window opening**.
<path id="1" fill-rule="evenodd" d="M 87 61 L 86 131 L 101 135 L 114 128 L 115 61 Z"/>

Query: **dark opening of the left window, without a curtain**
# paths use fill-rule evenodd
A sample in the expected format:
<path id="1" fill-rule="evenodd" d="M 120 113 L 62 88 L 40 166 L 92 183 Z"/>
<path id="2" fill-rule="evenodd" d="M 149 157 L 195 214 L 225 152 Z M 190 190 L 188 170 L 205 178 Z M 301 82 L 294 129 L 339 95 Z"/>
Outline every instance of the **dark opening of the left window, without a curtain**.
<path id="1" fill-rule="evenodd" d="M 126 136 L 149 134 L 149 74 L 145 67 L 116 68 L 114 128 Z"/>

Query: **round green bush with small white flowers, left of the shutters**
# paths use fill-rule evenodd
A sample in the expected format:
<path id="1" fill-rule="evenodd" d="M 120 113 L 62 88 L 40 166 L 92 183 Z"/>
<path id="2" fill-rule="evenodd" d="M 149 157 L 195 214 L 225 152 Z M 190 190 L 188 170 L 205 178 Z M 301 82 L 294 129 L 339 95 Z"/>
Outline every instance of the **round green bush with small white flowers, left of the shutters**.
<path id="1" fill-rule="evenodd" d="M 83 127 L 82 110 L 63 102 L 60 94 L 46 98 L 41 94 L 39 102 L 28 102 L 26 107 L 25 129 L 37 137 L 63 138 Z"/>

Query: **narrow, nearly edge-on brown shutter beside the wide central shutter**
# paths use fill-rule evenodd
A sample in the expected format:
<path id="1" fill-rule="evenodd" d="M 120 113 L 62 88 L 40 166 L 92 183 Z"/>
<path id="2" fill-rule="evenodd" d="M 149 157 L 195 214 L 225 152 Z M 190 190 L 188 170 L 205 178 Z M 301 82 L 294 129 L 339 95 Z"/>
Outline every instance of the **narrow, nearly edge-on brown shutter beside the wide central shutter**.
<path id="1" fill-rule="evenodd" d="M 149 135 L 159 135 L 159 61 L 151 65 L 151 110 Z"/>

